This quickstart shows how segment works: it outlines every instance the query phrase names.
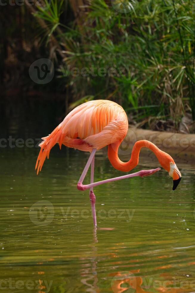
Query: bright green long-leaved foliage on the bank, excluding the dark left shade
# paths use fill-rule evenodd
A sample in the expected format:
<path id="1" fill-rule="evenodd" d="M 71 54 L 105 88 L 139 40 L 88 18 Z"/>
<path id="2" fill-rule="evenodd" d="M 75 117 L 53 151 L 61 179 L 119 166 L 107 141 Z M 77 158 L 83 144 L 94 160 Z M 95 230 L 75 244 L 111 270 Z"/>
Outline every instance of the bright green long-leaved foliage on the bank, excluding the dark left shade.
<path id="1" fill-rule="evenodd" d="M 64 44 L 59 77 L 81 99 L 77 104 L 85 96 L 112 99 L 138 121 L 151 115 L 172 118 L 176 128 L 184 111 L 195 120 L 195 2 L 128 1 L 131 9 L 120 13 L 110 1 L 90 0 L 82 26 L 61 23 L 61 33 L 55 28 L 62 1 L 54 1 L 47 15 L 39 9 L 36 16 L 52 24 L 51 34 Z M 79 74 L 71 73 L 74 67 Z M 81 75 L 82 68 L 89 68 L 89 76 Z M 105 76 L 99 68 L 105 68 Z M 108 74 L 109 68 L 115 74 Z"/>

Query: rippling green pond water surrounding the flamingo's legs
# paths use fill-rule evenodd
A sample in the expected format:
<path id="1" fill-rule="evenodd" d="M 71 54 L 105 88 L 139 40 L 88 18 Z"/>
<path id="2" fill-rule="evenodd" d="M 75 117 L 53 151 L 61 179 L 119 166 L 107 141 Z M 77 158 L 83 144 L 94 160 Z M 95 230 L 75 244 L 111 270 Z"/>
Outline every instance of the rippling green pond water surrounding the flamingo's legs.
<path id="1" fill-rule="evenodd" d="M 96 187 L 94 230 L 88 191 L 76 188 L 88 154 L 55 147 L 38 176 L 37 155 L 1 150 L 0 291 L 195 291 L 193 164 L 177 164 L 174 192 L 163 170 Z M 143 158 L 134 171 L 151 167 Z M 122 174 L 97 155 L 95 181 Z"/>

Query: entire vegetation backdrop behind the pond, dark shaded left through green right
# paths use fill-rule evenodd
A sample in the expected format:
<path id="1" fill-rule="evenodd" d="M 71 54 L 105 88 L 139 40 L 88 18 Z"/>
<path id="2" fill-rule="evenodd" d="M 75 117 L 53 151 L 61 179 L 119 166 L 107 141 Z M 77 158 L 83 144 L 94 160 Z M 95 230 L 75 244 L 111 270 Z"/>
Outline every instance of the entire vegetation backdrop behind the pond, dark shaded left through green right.
<path id="1" fill-rule="evenodd" d="M 194 7 L 193 0 L 1 0 L 3 103 L 33 99 L 38 107 L 48 99 L 63 119 L 87 100 L 110 99 L 136 127 L 194 133 Z M 45 85 L 29 76 L 39 58 L 55 66 Z M 97 76 L 71 74 L 92 66 Z M 117 75 L 100 76 L 102 67 Z"/>

